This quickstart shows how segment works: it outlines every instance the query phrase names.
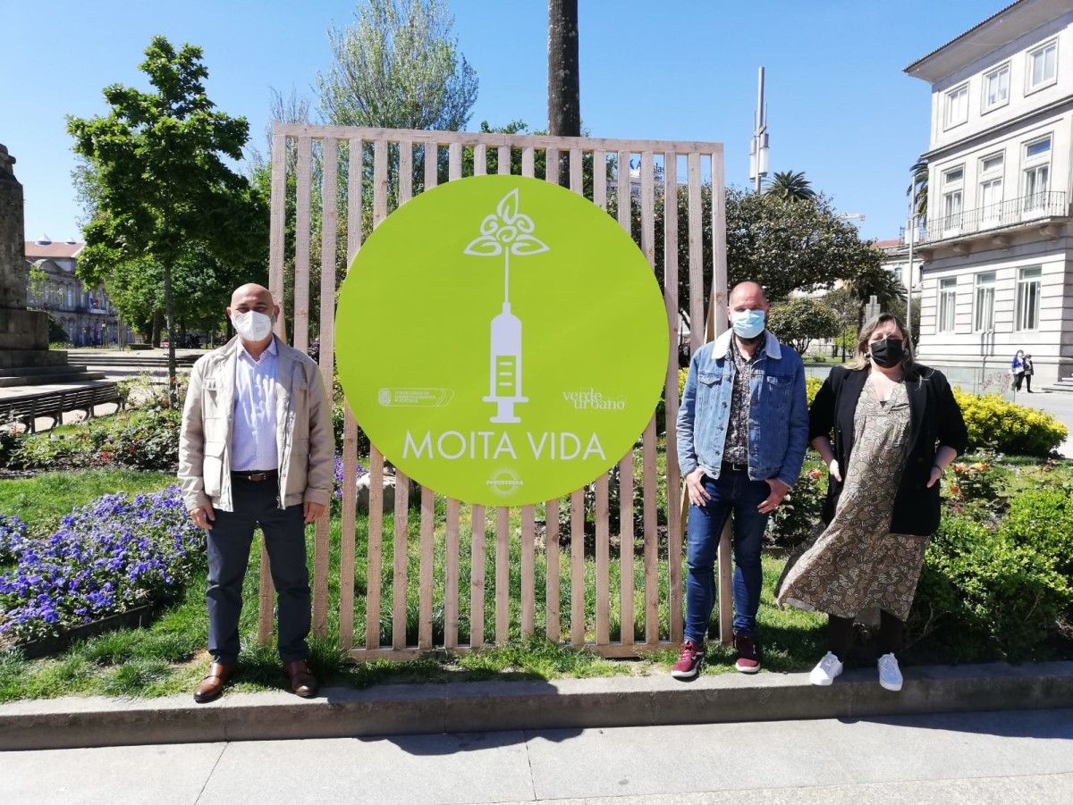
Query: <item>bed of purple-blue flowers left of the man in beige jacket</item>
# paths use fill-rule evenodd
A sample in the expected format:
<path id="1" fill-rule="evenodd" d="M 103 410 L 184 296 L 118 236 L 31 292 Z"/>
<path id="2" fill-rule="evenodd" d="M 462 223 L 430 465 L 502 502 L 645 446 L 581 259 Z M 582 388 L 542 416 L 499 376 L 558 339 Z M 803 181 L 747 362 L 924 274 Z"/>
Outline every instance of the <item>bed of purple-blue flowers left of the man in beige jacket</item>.
<path id="1" fill-rule="evenodd" d="M 178 487 L 104 495 L 50 536 L 21 542 L 0 576 L 0 637 L 25 642 L 159 600 L 203 564 L 205 540 Z"/>

